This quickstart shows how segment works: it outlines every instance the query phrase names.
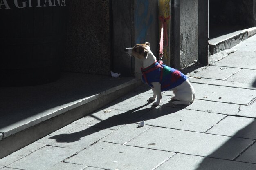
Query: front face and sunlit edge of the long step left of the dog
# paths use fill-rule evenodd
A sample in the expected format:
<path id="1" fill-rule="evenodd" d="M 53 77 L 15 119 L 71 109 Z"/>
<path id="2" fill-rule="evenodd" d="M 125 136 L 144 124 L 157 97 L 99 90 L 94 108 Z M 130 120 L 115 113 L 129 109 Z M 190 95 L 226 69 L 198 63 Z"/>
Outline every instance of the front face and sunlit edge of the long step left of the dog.
<path id="1" fill-rule="evenodd" d="M 111 103 L 139 84 L 137 79 L 132 79 L 119 86 L 59 108 L 55 112 L 6 133 L 0 133 L 0 159 Z"/>

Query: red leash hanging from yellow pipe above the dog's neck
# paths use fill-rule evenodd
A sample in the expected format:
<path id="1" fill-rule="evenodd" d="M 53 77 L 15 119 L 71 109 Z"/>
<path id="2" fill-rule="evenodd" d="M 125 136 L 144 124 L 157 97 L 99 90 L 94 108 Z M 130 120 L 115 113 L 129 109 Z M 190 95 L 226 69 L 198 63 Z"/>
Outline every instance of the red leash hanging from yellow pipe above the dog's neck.
<path id="1" fill-rule="evenodd" d="M 171 18 L 171 16 L 168 17 L 163 17 L 160 16 L 159 20 L 161 21 L 161 35 L 160 35 L 160 43 L 159 43 L 159 64 L 163 64 L 163 57 L 164 57 L 164 53 L 163 53 L 163 48 L 164 46 L 168 46 L 168 34 L 167 34 L 167 23 L 166 20 L 169 20 Z M 165 43 L 164 43 L 165 42 Z"/>

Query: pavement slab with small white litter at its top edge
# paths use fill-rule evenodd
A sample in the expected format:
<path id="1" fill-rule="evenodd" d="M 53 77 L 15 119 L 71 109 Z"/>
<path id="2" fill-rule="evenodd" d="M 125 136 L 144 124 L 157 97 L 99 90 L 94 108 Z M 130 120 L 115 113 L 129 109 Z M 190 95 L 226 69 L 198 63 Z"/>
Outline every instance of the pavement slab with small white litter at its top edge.
<path id="1" fill-rule="evenodd" d="M 148 130 L 152 126 L 138 126 L 138 124 L 127 124 L 115 130 L 110 135 L 101 139 L 101 141 L 106 141 L 115 144 L 126 144 L 131 139 L 137 137 L 144 131 Z"/>

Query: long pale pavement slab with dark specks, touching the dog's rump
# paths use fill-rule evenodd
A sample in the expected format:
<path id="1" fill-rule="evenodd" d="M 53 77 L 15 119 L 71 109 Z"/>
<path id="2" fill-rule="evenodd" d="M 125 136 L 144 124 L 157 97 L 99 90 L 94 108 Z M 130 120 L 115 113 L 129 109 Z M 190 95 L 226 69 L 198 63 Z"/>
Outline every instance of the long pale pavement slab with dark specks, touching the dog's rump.
<path id="1" fill-rule="evenodd" d="M 197 83 L 192 85 L 195 88 L 196 99 L 246 105 L 256 98 L 256 92 L 250 89 Z"/>

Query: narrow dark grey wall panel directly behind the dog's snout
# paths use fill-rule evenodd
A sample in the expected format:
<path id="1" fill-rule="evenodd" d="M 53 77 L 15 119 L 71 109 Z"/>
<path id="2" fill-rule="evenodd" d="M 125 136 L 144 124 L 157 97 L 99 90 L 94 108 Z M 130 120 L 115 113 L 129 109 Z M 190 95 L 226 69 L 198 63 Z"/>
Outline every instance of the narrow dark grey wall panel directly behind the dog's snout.
<path id="1" fill-rule="evenodd" d="M 134 76 L 134 58 L 124 52 L 134 45 L 133 0 L 112 0 L 113 71 Z"/>

